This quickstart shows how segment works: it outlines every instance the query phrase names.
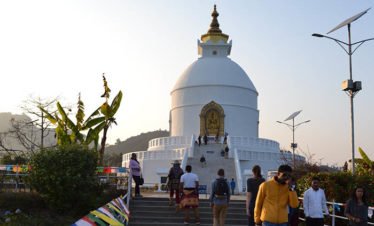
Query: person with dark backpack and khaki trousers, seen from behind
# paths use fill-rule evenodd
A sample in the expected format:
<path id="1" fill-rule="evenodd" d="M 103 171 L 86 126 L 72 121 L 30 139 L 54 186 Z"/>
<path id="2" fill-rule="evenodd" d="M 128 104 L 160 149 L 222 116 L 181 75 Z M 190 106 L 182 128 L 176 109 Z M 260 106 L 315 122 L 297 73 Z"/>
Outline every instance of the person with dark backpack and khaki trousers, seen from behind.
<path id="1" fill-rule="evenodd" d="M 210 206 L 213 209 L 213 226 L 224 226 L 227 207 L 230 202 L 229 183 L 225 179 L 225 171 L 219 169 L 218 178 L 212 183 L 212 192 L 210 193 Z"/>

